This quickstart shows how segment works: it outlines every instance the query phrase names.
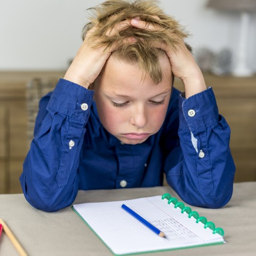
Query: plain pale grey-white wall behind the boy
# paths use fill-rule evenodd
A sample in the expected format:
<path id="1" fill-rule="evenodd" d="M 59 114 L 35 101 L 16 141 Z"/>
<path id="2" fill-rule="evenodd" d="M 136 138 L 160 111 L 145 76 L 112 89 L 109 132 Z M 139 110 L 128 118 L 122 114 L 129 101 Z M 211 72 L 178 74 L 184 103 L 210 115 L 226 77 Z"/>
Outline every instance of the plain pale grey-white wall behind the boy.
<path id="1" fill-rule="evenodd" d="M 99 0 L 0 0 L 0 70 L 60 70 L 68 67 L 81 44 L 86 9 Z M 206 9 L 207 0 L 161 0 L 166 13 L 192 35 L 194 49 L 235 52 L 239 15 Z M 247 59 L 256 71 L 256 14 L 251 15 Z"/>

